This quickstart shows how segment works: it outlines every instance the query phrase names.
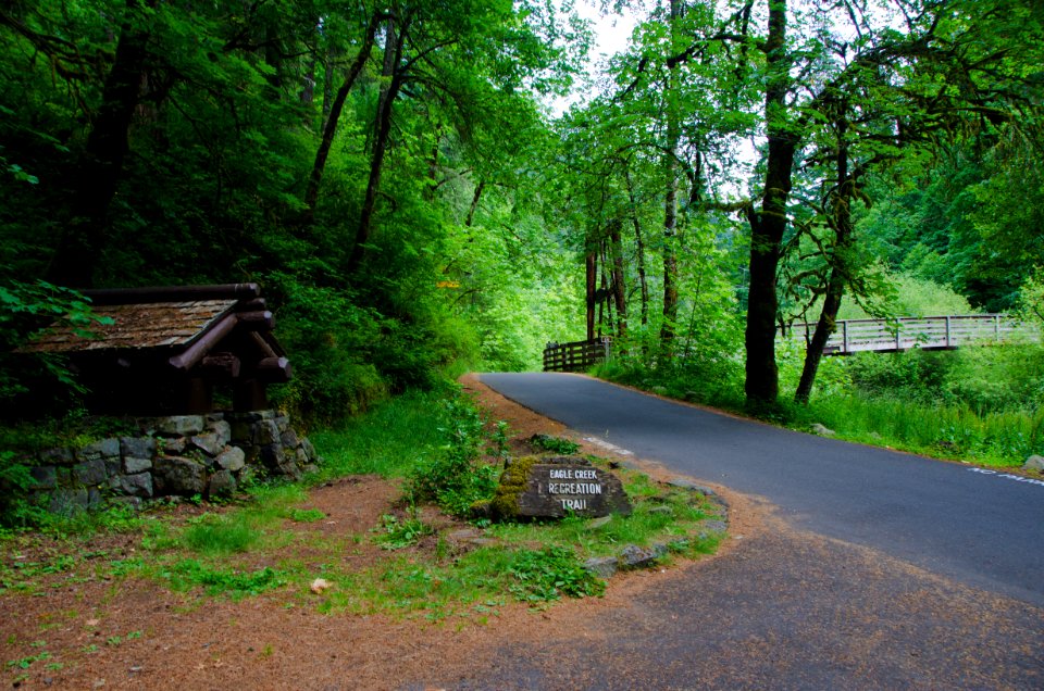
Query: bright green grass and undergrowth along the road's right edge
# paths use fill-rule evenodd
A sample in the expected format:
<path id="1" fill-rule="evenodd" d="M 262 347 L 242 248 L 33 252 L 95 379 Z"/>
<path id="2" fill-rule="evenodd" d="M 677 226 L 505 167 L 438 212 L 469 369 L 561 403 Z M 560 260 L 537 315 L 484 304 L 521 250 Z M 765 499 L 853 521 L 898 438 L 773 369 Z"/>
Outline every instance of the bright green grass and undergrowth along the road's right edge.
<path id="1" fill-rule="evenodd" d="M 1044 454 L 1044 348 L 1032 343 L 912 350 L 824 357 L 812 400 L 785 397 L 800 376 L 804 350 L 778 350 L 779 405 L 759 417 L 795 429 L 815 423 L 838 438 L 995 467 Z M 682 359 L 684 360 L 684 359 Z M 605 379 L 743 413 L 742 378 L 717 378 L 698 363 L 637 356 L 595 368 Z M 710 384 L 707 381 L 710 380 Z"/>

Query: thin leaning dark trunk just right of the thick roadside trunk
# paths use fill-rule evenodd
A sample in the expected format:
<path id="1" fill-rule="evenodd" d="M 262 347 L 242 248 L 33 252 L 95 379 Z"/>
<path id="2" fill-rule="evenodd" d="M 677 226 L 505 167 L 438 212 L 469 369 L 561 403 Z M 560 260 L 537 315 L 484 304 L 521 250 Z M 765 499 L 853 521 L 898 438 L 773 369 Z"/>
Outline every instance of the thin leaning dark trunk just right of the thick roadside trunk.
<path id="1" fill-rule="evenodd" d="M 845 292 L 845 282 L 848 279 L 850 267 L 848 254 L 852 251 L 852 198 L 855 191 L 855 180 L 848 178 L 848 147 L 845 141 L 847 122 L 842 117 L 837 123 L 837 189 L 833 192 L 831 206 L 833 208 L 832 225 L 836 233 L 834 255 L 831 262 L 830 277 L 826 280 L 826 290 L 823 296 L 823 309 L 816 324 L 816 332 L 805 351 L 805 363 L 801 367 L 801 379 L 798 381 L 794 400 L 798 403 L 808 403 L 816 384 L 816 374 L 819 363 L 823 359 L 823 349 L 837 328 L 837 312 Z"/>

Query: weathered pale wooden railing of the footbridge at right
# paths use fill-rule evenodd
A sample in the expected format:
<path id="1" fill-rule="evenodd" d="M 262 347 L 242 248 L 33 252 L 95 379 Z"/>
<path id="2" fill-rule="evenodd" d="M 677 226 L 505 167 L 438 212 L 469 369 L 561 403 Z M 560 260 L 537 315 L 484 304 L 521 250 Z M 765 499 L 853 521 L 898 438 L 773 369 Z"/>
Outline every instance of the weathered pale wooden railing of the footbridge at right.
<path id="1" fill-rule="evenodd" d="M 811 340 L 815 324 L 794 324 L 787 338 Z M 860 351 L 895 352 L 911 348 L 946 349 L 973 342 L 1039 341 L 1040 331 L 1007 314 L 898 317 L 893 319 L 840 319 L 823 349 L 824 355 Z"/>

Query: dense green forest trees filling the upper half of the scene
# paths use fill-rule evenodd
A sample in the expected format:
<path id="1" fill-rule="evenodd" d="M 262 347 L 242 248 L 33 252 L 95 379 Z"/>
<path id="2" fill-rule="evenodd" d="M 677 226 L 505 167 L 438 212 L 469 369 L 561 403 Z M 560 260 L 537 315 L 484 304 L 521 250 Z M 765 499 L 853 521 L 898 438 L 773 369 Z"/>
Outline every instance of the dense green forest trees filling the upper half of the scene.
<path id="1" fill-rule="evenodd" d="M 70 391 L 11 350 L 90 287 L 261 284 L 318 420 L 599 335 L 771 406 L 795 319 L 807 401 L 904 286 L 1032 314 L 1039 3 L 604 4 L 636 28 L 586 77 L 569 3 L 4 3 L 4 407 Z"/>

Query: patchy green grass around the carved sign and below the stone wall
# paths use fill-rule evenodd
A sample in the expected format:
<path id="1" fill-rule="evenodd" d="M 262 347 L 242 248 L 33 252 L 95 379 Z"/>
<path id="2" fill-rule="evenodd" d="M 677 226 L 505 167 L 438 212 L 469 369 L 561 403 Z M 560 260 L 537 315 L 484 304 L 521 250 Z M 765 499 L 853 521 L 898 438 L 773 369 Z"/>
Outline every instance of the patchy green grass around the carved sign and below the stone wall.
<path id="1" fill-rule="evenodd" d="M 476 497 L 492 492 L 506 444 L 505 429 L 484 424 L 465 398 L 445 399 L 445 392 L 407 394 L 350 425 L 313 435 L 326 458 L 319 479 L 360 473 L 403 478 L 410 494 L 405 499 L 415 500 L 423 486 L 431 501 L 450 513 L 465 514 Z M 492 449 L 493 465 L 478 458 L 482 449 Z M 188 519 L 175 522 L 162 511 L 135 518 L 127 526 L 141 535 L 141 543 L 133 556 L 97 555 L 90 568 L 84 568 L 86 555 L 71 556 L 51 562 L 49 569 L 70 578 L 86 573 L 111 580 L 115 590 L 127 578 L 146 578 L 195 598 L 238 600 L 282 591 L 278 596 L 288 599 L 288 604 L 321 612 L 380 612 L 483 624 L 511 601 L 540 603 L 599 594 L 604 583 L 583 568 L 583 561 L 619 554 L 626 544 L 670 544 L 672 554 L 666 561 L 713 550 L 720 533 L 700 536 L 701 524 L 713 513 L 706 500 L 681 490 L 664 492 L 630 470 L 621 476 L 634 501 L 630 516 L 598 524 L 579 517 L 502 525 L 480 522 L 496 544 L 463 551 L 446 536 L 436 535 L 417 511 L 399 517 L 388 513 L 369 535 L 328 538 L 288 530 L 291 523 L 325 517 L 307 507 L 308 488 L 303 483 L 258 486 L 250 488 L 246 503 Z M 433 535 L 434 540 L 428 537 Z M 425 538 L 423 548 L 418 546 L 421 538 Z M 308 541 L 307 558 L 284 556 L 282 550 L 296 540 Z M 372 568 L 350 566 L 345 554 L 372 550 L 366 544 L 371 541 L 386 548 L 386 556 Z M 11 590 L 25 583 L 26 592 L 32 592 L 34 579 L 45 575 L 41 565 L 10 567 L 8 563 L 0 561 L 4 565 L 0 586 Z M 25 573 L 16 574 L 16 568 Z M 310 585 L 319 577 L 333 586 L 316 598 Z"/>

